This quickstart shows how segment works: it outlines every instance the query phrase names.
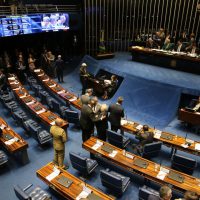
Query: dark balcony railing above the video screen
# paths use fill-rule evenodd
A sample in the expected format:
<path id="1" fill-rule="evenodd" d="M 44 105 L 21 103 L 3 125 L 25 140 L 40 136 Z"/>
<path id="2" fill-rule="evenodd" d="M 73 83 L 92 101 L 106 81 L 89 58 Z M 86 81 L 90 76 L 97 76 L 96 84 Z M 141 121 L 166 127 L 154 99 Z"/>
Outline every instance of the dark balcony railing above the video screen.
<path id="1" fill-rule="evenodd" d="M 80 12 L 80 5 L 26 4 L 17 6 L 17 14 Z M 16 15 L 17 15 L 16 14 Z M 11 15 L 10 6 L 0 6 L 0 16 Z"/>

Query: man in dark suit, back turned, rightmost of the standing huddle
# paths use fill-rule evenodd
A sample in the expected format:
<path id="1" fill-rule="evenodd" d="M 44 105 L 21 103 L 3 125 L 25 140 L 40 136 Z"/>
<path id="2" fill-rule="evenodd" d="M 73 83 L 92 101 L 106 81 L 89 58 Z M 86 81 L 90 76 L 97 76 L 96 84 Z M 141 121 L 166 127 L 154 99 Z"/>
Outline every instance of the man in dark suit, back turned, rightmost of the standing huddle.
<path id="1" fill-rule="evenodd" d="M 117 103 L 109 106 L 108 112 L 110 112 L 110 115 L 108 120 L 110 121 L 112 131 L 117 132 L 121 127 L 121 118 L 124 117 L 123 100 L 123 97 L 118 97 Z"/>

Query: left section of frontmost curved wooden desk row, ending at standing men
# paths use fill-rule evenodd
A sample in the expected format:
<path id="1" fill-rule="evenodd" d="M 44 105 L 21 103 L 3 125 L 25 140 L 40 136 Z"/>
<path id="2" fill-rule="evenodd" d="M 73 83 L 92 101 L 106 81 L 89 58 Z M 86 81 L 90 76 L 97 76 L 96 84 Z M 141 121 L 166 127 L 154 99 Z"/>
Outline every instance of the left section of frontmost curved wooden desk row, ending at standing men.
<path id="1" fill-rule="evenodd" d="M 64 89 L 61 85 L 47 76 L 42 69 L 36 69 L 33 71 L 33 73 L 36 75 L 38 80 L 40 80 L 40 82 L 53 94 L 59 96 L 75 108 L 79 110 L 81 109 L 80 99 L 75 94 Z"/>

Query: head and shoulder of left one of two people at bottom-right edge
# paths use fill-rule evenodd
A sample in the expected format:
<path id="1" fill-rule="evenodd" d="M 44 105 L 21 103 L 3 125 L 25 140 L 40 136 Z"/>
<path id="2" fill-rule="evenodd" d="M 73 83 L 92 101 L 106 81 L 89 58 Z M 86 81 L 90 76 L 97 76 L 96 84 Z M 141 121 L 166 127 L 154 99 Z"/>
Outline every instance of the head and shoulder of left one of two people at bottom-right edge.
<path id="1" fill-rule="evenodd" d="M 171 200 L 172 190 L 167 185 L 163 185 L 159 191 L 159 197 L 155 195 L 149 195 L 148 200 Z"/>

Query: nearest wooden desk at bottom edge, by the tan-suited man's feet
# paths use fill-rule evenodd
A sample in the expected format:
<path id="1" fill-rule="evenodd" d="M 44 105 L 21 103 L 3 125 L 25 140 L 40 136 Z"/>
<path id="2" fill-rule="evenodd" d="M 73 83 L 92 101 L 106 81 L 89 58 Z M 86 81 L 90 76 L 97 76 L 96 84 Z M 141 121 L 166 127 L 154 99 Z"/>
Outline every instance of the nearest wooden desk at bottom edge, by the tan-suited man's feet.
<path id="1" fill-rule="evenodd" d="M 57 191 L 65 199 L 99 199 L 113 200 L 113 198 L 83 182 L 63 169 L 54 168 L 53 163 L 48 163 L 36 172 L 37 176 L 49 187 Z M 61 180 L 67 180 L 63 186 Z"/>

